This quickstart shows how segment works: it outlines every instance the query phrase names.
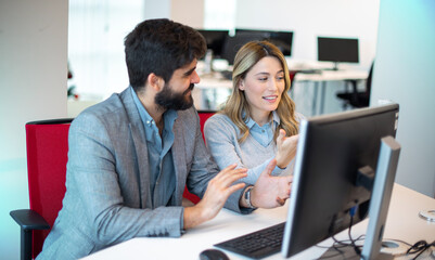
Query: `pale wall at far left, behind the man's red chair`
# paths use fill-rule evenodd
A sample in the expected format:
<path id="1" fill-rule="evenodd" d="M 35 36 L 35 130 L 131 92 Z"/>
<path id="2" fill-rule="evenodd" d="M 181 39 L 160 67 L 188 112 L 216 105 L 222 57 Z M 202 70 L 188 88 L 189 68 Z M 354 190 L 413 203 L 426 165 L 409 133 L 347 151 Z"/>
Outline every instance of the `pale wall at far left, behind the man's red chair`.
<path id="1" fill-rule="evenodd" d="M 25 122 L 66 117 L 67 0 L 0 2 L 0 259 L 20 259 L 9 211 L 28 208 Z"/>

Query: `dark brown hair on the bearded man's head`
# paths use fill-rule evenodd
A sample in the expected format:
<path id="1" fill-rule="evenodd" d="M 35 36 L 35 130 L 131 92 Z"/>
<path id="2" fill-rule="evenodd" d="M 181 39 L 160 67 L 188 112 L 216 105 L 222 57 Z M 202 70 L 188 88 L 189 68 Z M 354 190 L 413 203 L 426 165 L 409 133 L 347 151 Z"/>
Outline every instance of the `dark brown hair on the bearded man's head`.
<path id="1" fill-rule="evenodd" d="M 201 58 L 207 49 L 195 29 L 166 20 L 148 20 L 125 38 L 130 84 L 140 90 L 151 73 L 168 82 L 176 69 Z"/>

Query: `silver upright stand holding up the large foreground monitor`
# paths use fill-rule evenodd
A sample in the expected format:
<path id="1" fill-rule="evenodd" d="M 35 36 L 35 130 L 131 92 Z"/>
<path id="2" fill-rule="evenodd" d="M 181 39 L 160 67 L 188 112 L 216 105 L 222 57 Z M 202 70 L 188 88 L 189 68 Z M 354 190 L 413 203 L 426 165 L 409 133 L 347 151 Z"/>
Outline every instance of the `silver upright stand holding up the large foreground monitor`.
<path id="1" fill-rule="evenodd" d="M 321 259 L 394 259 L 393 255 L 381 252 L 381 246 L 399 154 L 400 144 L 394 138 L 386 136 L 381 140 L 376 174 L 370 199 L 369 224 L 361 256 L 355 251 L 353 246 L 341 247 L 338 245 L 340 250 L 331 247 Z"/>

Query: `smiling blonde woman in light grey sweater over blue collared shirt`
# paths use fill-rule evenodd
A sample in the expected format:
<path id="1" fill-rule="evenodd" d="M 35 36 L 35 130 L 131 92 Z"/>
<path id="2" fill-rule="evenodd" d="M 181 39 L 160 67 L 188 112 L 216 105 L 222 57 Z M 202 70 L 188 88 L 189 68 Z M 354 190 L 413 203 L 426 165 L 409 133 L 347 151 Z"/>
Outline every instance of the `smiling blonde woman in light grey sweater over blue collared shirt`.
<path id="1" fill-rule="evenodd" d="M 247 168 L 244 182 L 255 184 L 271 159 L 272 176 L 293 171 L 302 115 L 289 96 L 289 68 L 268 41 L 252 41 L 235 55 L 233 89 L 223 108 L 204 128 L 207 147 L 220 169 Z"/>

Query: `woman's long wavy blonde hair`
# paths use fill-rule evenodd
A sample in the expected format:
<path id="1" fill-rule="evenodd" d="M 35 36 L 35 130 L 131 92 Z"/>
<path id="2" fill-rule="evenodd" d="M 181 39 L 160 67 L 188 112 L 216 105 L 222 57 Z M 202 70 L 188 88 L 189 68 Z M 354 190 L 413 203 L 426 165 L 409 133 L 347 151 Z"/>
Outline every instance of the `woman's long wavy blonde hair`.
<path id="1" fill-rule="evenodd" d="M 280 125 L 274 130 L 273 140 L 277 139 L 280 129 L 284 129 L 287 136 L 297 134 L 298 132 L 298 122 L 295 119 L 295 103 L 289 95 L 290 76 L 284 55 L 276 46 L 268 41 L 251 41 L 244 44 L 235 54 L 232 72 L 232 93 L 220 110 L 220 113 L 227 115 L 239 127 L 242 134 L 239 142 L 245 141 L 250 134 L 250 129 L 245 121 L 251 117 L 248 103 L 244 92 L 239 89 L 239 84 L 246 77 L 247 72 L 265 56 L 277 57 L 284 70 L 285 88 L 277 108 Z"/>

